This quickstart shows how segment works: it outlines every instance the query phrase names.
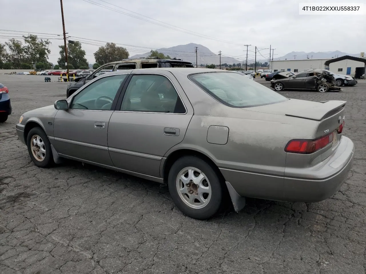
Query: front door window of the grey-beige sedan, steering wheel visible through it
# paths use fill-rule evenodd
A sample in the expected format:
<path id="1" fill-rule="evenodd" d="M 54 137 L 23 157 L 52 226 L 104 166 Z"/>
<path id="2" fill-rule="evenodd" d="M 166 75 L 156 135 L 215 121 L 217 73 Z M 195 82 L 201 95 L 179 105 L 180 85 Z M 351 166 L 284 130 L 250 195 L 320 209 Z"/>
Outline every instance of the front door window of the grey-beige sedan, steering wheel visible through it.
<path id="1" fill-rule="evenodd" d="M 88 85 L 72 99 L 70 109 L 111 110 L 117 91 L 127 75 L 101 78 Z"/>

